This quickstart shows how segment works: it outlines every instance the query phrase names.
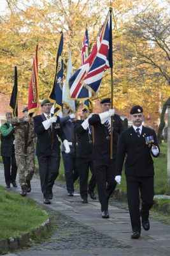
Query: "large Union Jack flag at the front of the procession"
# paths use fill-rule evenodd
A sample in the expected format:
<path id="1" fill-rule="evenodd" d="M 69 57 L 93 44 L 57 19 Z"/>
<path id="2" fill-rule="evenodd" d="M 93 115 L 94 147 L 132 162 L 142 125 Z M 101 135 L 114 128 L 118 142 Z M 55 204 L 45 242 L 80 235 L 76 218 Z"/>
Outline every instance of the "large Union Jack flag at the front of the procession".
<path id="1" fill-rule="evenodd" d="M 89 91 L 93 97 L 99 91 L 104 71 L 110 67 L 113 67 L 111 10 L 90 56 L 69 79 L 70 97 L 89 99 Z"/>

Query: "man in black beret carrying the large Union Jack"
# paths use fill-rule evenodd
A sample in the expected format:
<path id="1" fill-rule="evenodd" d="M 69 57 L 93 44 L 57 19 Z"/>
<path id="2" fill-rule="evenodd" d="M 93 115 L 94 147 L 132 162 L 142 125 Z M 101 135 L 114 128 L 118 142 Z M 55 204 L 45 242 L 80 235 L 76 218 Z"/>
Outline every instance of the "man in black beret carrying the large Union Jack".
<path id="1" fill-rule="evenodd" d="M 118 134 L 124 131 L 123 121 L 115 114 L 115 109 L 111 109 L 111 99 L 101 100 L 102 113 L 92 115 L 83 124 L 94 127 L 93 160 L 94 171 L 97 181 L 97 191 L 99 202 L 101 203 L 102 218 L 109 218 L 108 201 L 117 186 L 115 181 L 115 164 L 117 156 Z M 111 116 L 113 116 L 113 131 L 111 131 Z M 113 159 L 110 159 L 110 138 L 113 133 Z"/>

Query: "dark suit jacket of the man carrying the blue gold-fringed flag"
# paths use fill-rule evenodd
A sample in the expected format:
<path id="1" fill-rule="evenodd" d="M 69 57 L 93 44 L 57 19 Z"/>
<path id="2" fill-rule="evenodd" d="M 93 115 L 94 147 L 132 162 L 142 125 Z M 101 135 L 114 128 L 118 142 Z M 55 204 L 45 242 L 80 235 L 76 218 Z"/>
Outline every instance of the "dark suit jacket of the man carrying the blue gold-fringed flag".
<path id="1" fill-rule="evenodd" d="M 45 116 L 44 116 L 45 117 Z M 46 118 L 45 118 L 46 120 Z M 36 143 L 36 156 L 50 156 L 52 154 L 51 149 L 51 136 L 52 132 L 50 132 L 50 128 L 45 130 L 43 126 L 43 118 L 41 115 L 34 116 L 34 132 L 37 134 L 37 143 Z M 60 141 L 58 140 L 57 135 L 63 141 L 66 139 L 66 136 L 60 129 L 60 118 L 57 116 L 57 125 L 54 129 L 53 134 L 53 150 L 60 153 Z"/>

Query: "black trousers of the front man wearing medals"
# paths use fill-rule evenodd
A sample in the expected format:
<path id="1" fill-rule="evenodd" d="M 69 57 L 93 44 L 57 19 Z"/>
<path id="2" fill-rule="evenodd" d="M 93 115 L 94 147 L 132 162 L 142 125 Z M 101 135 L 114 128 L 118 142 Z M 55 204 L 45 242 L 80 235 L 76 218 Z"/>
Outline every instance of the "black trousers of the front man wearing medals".
<path id="1" fill-rule="evenodd" d="M 148 220 L 149 210 L 153 205 L 154 196 L 154 178 L 153 177 L 136 177 L 126 175 L 127 181 L 127 200 L 129 213 L 131 217 L 132 231 L 141 232 L 141 218 L 143 221 Z M 140 193 L 139 193 L 140 192 Z M 140 195 L 142 200 L 141 212 Z"/>

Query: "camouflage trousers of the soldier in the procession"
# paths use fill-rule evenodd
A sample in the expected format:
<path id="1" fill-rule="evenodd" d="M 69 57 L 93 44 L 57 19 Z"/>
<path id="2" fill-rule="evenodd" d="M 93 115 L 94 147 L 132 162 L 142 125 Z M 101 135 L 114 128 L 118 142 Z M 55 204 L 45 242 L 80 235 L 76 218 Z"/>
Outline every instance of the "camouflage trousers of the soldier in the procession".
<path id="1" fill-rule="evenodd" d="M 20 186 L 27 184 L 26 180 L 31 180 L 35 170 L 35 154 L 27 156 L 15 155 L 18 167 Z"/>

